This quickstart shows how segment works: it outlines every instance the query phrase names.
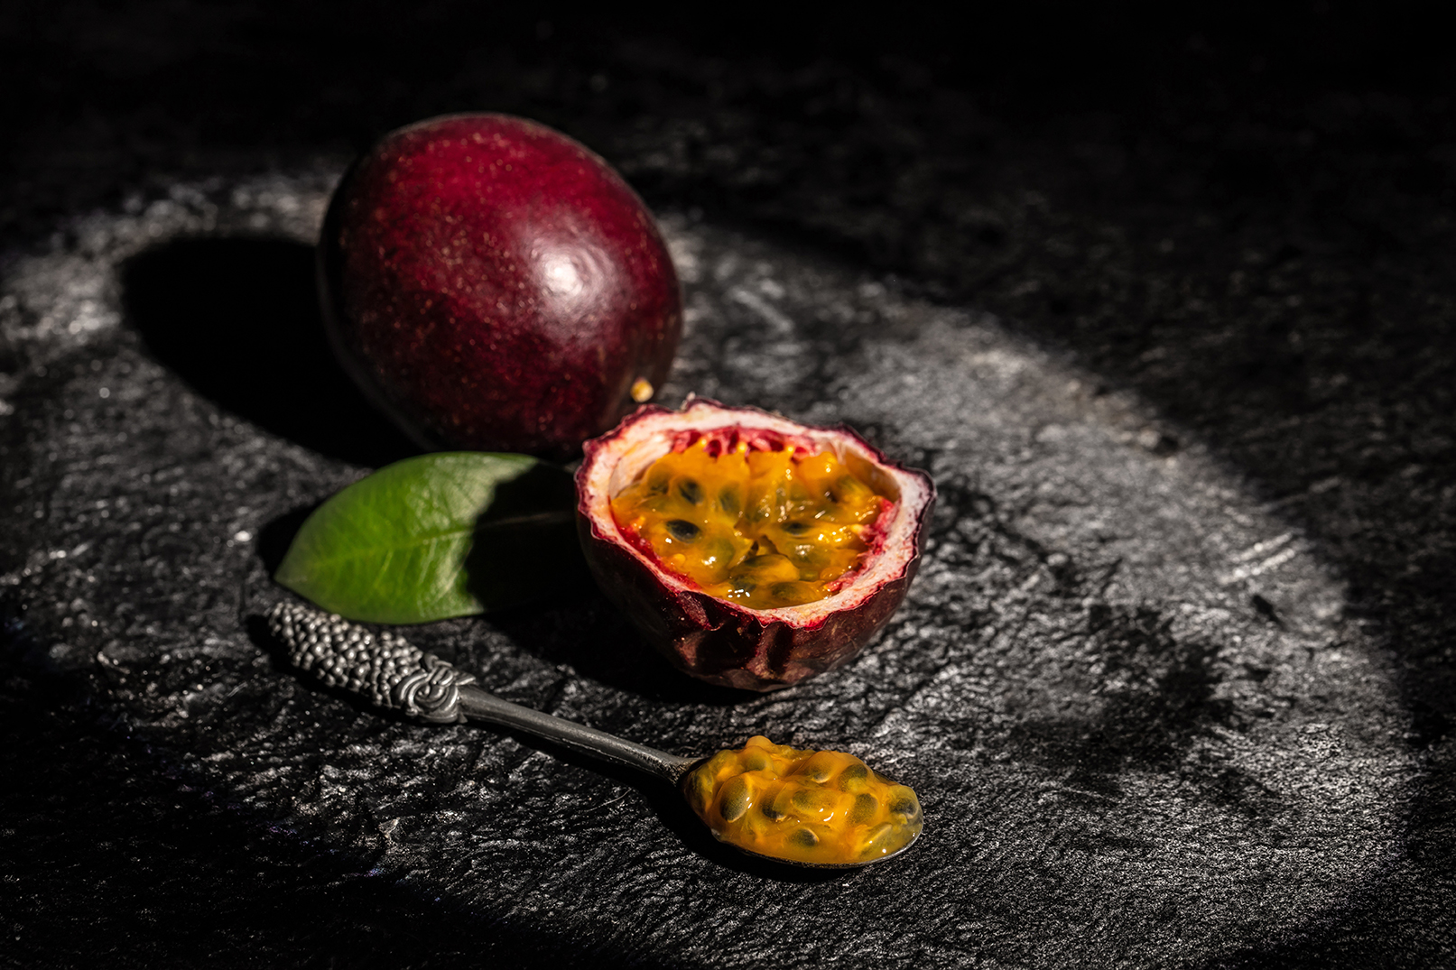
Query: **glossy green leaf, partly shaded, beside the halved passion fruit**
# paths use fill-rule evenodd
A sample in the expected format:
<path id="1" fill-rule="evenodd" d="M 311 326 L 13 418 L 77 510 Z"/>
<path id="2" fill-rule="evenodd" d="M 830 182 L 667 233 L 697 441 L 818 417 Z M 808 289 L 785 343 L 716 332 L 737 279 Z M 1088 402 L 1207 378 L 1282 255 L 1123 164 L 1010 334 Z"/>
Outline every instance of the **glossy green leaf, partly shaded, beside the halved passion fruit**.
<path id="1" fill-rule="evenodd" d="M 374 623 L 517 606 L 582 572 L 575 504 L 565 469 L 524 454 L 422 454 L 319 505 L 274 578 Z"/>

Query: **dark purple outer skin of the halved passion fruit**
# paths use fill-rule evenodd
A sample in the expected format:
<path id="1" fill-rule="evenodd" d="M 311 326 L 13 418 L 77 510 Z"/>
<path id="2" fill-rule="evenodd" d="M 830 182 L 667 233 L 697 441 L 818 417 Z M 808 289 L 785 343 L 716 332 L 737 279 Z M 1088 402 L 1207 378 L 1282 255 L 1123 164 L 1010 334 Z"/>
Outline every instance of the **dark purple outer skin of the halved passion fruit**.
<path id="1" fill-rule="evenodd" d="M 895 578 L 858 606 L 831 613 L 820 623 L 795 626 L 783 620 L 766 622 L 763 613 L 741 609 L 728 600 L 668 587 L 658 572 L 593 526 L 593 510 L 587 507 L 582 488 L 588 466 L 598 452 L 613 446 L 622 428 L 645 414 L 662 411 L 657 406 L 641 408 L 616 431 L 587 441 L 585 460 L 577 470 L 577 533 L 587 564 L 607 599 L 674 667 L 725 687 L 778 690 L 849 663 L 900 607 L 920 565 L 923 526 L 933 505 L 929 476 L 901 469 L 919 475 L 932 489 L 932 500 L 922 510 L 909 559 Z M 735 411 L 743 411 L 748 418 L 745 424 L 751 424 L 753 409 Z M 834 433 L 859 440 L 881 465 L 900 468 L 847 428 Z M 612 514 L 610 510 L 606 514 Z"/>

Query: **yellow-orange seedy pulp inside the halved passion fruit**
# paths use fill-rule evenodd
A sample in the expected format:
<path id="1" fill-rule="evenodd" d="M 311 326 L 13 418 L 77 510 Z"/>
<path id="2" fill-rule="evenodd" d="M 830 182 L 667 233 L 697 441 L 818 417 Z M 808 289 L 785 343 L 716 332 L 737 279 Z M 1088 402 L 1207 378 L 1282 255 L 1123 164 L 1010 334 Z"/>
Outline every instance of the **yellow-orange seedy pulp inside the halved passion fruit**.
<path id="1" fill-rule="evenodd" d="M 654 462 L 612 500 L 612 516 L 670 572 L 767 610 L 834 593 L 887 504 L 831 452 L 740 441 L 715 457 L 702 440 Z"/>

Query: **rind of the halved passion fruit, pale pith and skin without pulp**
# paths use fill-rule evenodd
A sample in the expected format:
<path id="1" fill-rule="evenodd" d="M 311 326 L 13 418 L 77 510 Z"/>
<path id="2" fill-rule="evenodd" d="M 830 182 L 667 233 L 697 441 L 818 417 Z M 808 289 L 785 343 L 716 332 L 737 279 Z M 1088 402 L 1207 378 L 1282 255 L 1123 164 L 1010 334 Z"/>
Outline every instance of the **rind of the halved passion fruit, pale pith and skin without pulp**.
<path id="1" fill-rule="evenodd" d="M 894 501 L 878 523 L 863 567 L 833 596 L 801 606 L 753 610 L 708 596 L 638 549 L 612 517 L 610 500 L 673 447 L 683 431 L 741 427 L 820 452 L 833 449 L 875 491 Z M 692 401 L 683 411 L 639 408 L 587 441 L 577 470 L 577 527 L 597 583 L 642 634 L 683 671 L 712 683 L 773 690 L 831 670 L 885 625 L 920 562 L 920 530 L 935 486 L 847 428 L 814 428 L 757 408 Z"/>

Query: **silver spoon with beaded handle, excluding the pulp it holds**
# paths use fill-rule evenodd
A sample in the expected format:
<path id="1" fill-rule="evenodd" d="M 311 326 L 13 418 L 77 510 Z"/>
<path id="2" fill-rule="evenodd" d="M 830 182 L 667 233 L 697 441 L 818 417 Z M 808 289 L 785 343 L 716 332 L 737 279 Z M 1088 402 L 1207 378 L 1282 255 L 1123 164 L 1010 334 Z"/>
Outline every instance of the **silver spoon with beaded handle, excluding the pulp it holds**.
<path id="1" fill-rule="evenodd" d="M 373 634 L 338 615 L 301 603 L 278 603 L 268 610 L 266 620 L 268 631 L 288 648 L 288 660 L 296 667 L 313 673 L 325 686 L 351 690 L 377 708 L 400 711 L 428 724 L 462 724 L 473 719 L 515 728 L 574 752 L 645 772 L 680 792 L 689 772 L 706 760 L 668 754 L 585 724 L 501 701 L 475 686 L 475 674 L 457 670 L 390 631 Z M 911 845 L 914 839 L 888 855 L 865 862 L 799 862 L 738 845 L 734 848 L 754 858 L 786 865 L 850 870 L 893 859 Z"/>

